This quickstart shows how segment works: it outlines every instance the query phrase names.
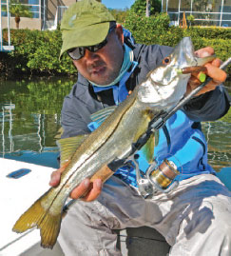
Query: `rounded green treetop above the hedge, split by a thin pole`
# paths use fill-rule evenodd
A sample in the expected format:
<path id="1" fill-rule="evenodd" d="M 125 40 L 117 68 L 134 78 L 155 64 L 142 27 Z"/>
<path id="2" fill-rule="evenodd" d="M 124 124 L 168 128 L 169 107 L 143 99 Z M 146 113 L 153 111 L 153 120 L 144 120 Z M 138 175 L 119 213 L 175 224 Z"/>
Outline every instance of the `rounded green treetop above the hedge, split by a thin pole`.
<path id="1" fill-rule="evenodd" d="M 162 9 L 162 3 L 160 0 L 149 0 L 149 5 L 150 5 L 150 15 L 153 15 L 155 12 L 160 12 Z M 146 1 L 136 0 L 135 3 L 131 6 L 130 10 L 132 12 L 137 13 L 138 15 L 145 15 Z"/>

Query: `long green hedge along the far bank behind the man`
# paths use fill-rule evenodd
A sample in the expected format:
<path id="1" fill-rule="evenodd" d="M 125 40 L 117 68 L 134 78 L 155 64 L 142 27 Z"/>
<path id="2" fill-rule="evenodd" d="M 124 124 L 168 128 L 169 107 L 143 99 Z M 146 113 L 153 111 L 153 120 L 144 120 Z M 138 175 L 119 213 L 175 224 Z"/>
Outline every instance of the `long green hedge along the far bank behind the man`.
<path id="1" fill-rule="evenodd" d="M 183 30 L 169 27 L 169 17 L 165 13 L 145 17 L 133 11 L 127 15 L 124 26 L 132 32 L 137 43 L 174 47 L 184 36 L 190 36 L 195 49 L 211 46 L 222 61 L 230 56 L 231 29 L 191 27 Z M 15 50 L 0 52 L 1 76 L 76 74 L 77 70 L 67 54 L 59 60 L 60 30 L 10 30 L 10 33 Z M 3 31 L 3 38 L 8 41 L 7 30 Z M 227 70 L 230 72 L 231 67 Z"/>

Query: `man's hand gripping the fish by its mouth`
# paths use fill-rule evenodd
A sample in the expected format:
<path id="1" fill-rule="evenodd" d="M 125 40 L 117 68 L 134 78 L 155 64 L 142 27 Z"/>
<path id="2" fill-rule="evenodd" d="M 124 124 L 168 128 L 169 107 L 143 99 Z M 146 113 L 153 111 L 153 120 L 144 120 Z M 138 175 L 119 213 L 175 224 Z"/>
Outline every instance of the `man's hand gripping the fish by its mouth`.
<path id="1" fill-rule="evenodd" d="M 198 57 L 206 57 L 214 54 L 214 49 L 211 47 L 203 48 L 203 49 L 198 49 L 196 52 L 196 55 Z M 203 89 L 201 89 L 197 96 L 208 92 L 210 90 L 216 89 L 217 86 L 219 86 L 221 83 L 223 83 L 227 77 L 227 74 L 219 69 L 221 66 L 221 60 L 216 58 L 212 62 L 207 63 L 204 65 L 206 67 L 205 74 L 207 76 L 210 76 L 213 80 L 210 81 Z M 192 73 L 191 78 L 188 81 L 187 84 L 187 90 L 186 90 L 186 95 L 190 93 L 193 89 L 197 88 L 202 82 L 200 81 L 200 73 Z"/>

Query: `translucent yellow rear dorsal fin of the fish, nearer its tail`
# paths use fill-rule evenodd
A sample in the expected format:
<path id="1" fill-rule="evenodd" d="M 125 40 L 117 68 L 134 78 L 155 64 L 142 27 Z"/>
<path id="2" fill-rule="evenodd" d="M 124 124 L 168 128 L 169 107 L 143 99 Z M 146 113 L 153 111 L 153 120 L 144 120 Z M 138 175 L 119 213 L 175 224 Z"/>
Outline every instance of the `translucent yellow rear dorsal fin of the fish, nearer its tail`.
<path id="1" fill-rule="evenodd" d="M 75 137 L 69 137 L 66 139 L 60 139 L 57 141 L 57 145 L 60 149 L 60 166 L 63 167 L 65 163 L 72 157 L 73 153 L 87 138 L 88 134 L 78 135 Z"/>

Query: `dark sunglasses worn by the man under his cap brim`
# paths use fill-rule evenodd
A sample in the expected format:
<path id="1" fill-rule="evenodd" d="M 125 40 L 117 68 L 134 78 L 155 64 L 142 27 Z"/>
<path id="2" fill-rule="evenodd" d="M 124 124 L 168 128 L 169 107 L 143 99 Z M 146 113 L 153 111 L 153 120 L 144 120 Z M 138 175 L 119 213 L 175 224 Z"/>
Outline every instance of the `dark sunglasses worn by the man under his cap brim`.
<path id="1" fill-rule="evenodd" d="M 116 28 L 116 26 L 111 27 L 108 30 L 107 34 L 109 34 L 115 28 Z M 97 50 L 102 49 L 103 47 L 105 47 L 106 44 L 107 44 L 107 39 L 105 39 L 103 42 L 101 42 L 101 43 L 99 43 L 97 45 L 94 45 L 94 46 L 68 49 L 67 53 L 68 53 L 69 57 L 72 60 L 79 60 L 79 59 L 81 59 L 81 58 L 83 58 L 85 56 L 86 49 L 88 49 L 91 52 L 96 52 Z"/>

